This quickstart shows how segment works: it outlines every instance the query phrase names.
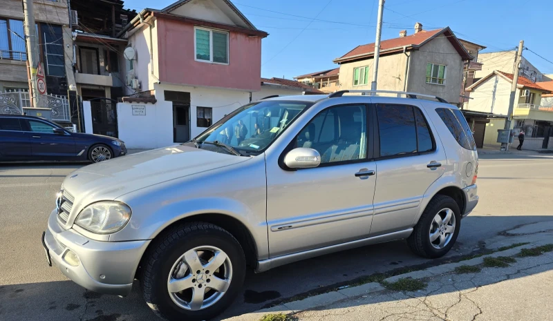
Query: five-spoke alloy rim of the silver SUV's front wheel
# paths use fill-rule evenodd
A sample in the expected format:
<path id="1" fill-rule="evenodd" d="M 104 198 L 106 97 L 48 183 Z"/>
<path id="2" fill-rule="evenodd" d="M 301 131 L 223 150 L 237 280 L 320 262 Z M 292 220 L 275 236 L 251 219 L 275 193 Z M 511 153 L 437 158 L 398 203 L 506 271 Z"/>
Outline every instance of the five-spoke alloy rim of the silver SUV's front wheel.
<path id="1" fill-rule="evenodd" d="M 228 255 L 215 246 L 198 246 L 173 264 L 167 291 L 178 307 L 198 311 L 221 300 L 231 280 L 232 264 Z"/>

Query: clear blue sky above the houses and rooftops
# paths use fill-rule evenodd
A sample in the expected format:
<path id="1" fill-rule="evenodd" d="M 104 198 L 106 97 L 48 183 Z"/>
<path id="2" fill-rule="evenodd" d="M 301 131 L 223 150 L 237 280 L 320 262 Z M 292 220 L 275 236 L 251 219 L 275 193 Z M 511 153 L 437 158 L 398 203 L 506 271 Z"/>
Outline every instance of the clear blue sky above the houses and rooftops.
<path id="1" fill-rule="evenodd" d="M 175 1 L 126 0 L 125 5 L 161 9 Z M 263 77 L 292 79 L 336 68 L 332 59 L 375 41 L 378 0 L 232 2 L 256 28 L 269 32 L 262 42 Z M 398 37 L 402 29 L 412 35 L 420 21 L 427 30 L 449 26 L 457 37 L 487 46 L 485 51 L 515 48 L 524 39 L 525 47 L 553 61 L 553 0 L 386 0 L 384 8 L 382 39 Z M 553 64 L 529 50 L 523 55 L 541 72 L 553 73 Z"/>

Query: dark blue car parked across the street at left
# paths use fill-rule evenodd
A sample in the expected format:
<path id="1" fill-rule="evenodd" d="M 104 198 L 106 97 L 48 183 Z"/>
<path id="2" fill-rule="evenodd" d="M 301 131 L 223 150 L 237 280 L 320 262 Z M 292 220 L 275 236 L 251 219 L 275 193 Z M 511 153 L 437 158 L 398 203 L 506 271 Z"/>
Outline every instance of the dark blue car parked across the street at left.
<path id="1" fill-rule="evenodd" d="M 0 162 L 97 163 L 125 154 L 125 144 L 117 138 L 71 133 L 39 117 L 0 115 Z"/>

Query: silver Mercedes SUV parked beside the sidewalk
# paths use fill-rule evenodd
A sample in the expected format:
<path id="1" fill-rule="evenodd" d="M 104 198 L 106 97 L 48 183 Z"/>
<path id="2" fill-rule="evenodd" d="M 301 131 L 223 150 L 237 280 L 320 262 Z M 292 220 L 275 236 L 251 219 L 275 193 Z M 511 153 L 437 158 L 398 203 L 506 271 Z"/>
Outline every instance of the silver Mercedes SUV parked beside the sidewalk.
<path id="1" fill-rule="evenodd" d="M 127 295 L 139 279 L 158 315 L 206 320 L 247 266 L 399 239 L 446 254 L 478 202 L 467 121 L 438 97 L 346 93 L 261 99 L 188 143 L 71 173 L 48 262 L 91 291 Z"/>

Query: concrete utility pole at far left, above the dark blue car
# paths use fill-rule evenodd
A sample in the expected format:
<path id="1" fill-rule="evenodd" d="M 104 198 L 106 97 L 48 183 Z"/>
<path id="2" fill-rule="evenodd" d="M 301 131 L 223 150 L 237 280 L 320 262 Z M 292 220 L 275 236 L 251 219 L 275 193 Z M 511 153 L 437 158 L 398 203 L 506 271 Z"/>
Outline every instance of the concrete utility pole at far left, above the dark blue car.
<path id="1" fill-rule="evenodd" d="M 37 35 L 35 32 L 35 10 L 32 6 L 32 0 L 23 0 L 23 15 L 25 39 L 27 44 L 27 60 L 30 68 L 29 93 L 31 97 L 32 107 L 38 107 L 39 93 L 37 90 L 37 67 L 39 66 L 39 55 L 37 46 Z"/>

